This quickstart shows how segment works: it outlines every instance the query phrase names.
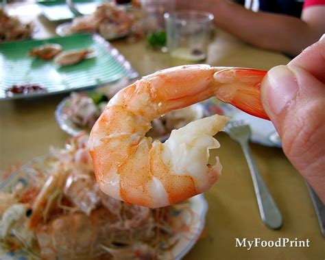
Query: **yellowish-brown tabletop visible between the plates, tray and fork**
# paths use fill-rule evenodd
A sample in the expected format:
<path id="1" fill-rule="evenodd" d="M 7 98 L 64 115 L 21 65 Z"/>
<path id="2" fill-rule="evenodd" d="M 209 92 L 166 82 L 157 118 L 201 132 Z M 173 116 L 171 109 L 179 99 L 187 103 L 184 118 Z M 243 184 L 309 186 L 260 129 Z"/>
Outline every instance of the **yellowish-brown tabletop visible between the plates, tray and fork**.
<path id="1" fill-rule="evenodd" d="M 25 21 L 32 19 L 38 28 L 36 38 L 55 35 L 57 24 L 47 21 L 37 5 L 13 5 L 10 13 L 19 14 Z M 143 40 L 132 44 L 119 40 L 112 44 L 140 75 L 170 66 L 167 54 L 148 49 Z M 282 54 L 257 49 L 219 29 L 210 43 L 206 60 L 207 64 L 215 66 L 256 69 L 270 69 L 287 62 L 289 58 Z M 67 95 L 0 102 L 0 169 L 47 154 L 51 145 L 64 145 L 68 136 L 56 123 L 54 110 Z M 282 150 L 250 145 L 256 165 L 283 215 L 282 228 L 273 231 L 261 222 L 252 178 L 241 147 L 224 133 L 218 134 L 217 139 L 221 143 L 217 155 L 224 167 L 222 176 L 217 185 L 204 193 L 209 206 L 206 228 L 202 239 L 184 259 L 324 259 L 325 240 L 305 182 Z M 310 247 L 248 250 L 235 247 L 236 238 L 309 239 Z"/>

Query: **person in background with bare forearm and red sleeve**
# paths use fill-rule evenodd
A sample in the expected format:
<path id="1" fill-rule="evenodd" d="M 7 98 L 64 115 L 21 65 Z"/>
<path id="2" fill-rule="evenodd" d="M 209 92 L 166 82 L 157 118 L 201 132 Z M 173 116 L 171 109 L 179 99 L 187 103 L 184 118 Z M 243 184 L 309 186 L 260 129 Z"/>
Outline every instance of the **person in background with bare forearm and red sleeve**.
<path id="1" fill-rule="evenodd" d="M 178 10 L 201 10 L 246 43 L 297 56 L 325 32 L 325 0 L 176 0 Z"/>

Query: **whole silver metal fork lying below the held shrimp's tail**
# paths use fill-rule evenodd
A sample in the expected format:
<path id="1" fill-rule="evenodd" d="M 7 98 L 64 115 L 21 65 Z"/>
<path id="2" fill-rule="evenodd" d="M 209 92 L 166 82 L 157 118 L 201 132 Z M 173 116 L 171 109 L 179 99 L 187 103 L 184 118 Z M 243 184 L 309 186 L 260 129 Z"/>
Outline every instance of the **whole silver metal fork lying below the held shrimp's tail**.
<path id="1" fill-rule="evenodd" d="M 272 229 L 280 228 L 282 225 L 282 215 L 271 193 L 269 193 L 269 189 L 267 189 L 261 174 L 259 174 L 252 159 L 252 154 L 250 153 L 250 147 L 248 145 L 251 135 L 250 126 L 244 121 L 232 121 L 227 124 L 225 130 L 231 139 L 240 143 L 243 149 L 248 167 L 250 168 L 250 174 L 252 175 L 258 209 L 263 223 Z"/>

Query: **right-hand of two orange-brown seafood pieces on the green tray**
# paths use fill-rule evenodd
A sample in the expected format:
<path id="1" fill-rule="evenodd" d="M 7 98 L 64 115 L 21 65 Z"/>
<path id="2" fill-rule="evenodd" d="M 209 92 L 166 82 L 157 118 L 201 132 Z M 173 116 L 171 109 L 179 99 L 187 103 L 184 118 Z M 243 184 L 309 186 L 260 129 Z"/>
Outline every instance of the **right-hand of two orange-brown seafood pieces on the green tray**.
<path id="1" fill-rule="evenodd" d="M 62 51 L 54 58 L 54 63 L 59 66 L 71 66 L 81 62 L 85 58 L 91 58 L 93 54 L 91 49 L 71 49 L 69 51 Z"/>

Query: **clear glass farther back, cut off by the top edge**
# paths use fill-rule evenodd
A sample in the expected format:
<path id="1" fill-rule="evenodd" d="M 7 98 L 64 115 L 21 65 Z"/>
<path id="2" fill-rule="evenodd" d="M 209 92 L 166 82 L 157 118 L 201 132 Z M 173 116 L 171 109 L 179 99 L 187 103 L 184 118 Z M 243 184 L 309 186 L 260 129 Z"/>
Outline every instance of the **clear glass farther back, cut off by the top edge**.
<path id="1" fill-rule="evenodd" d="M 147 32 L 165 30 L 164 14 L 175 10 L 175 0 L 141 0 Z"/>

